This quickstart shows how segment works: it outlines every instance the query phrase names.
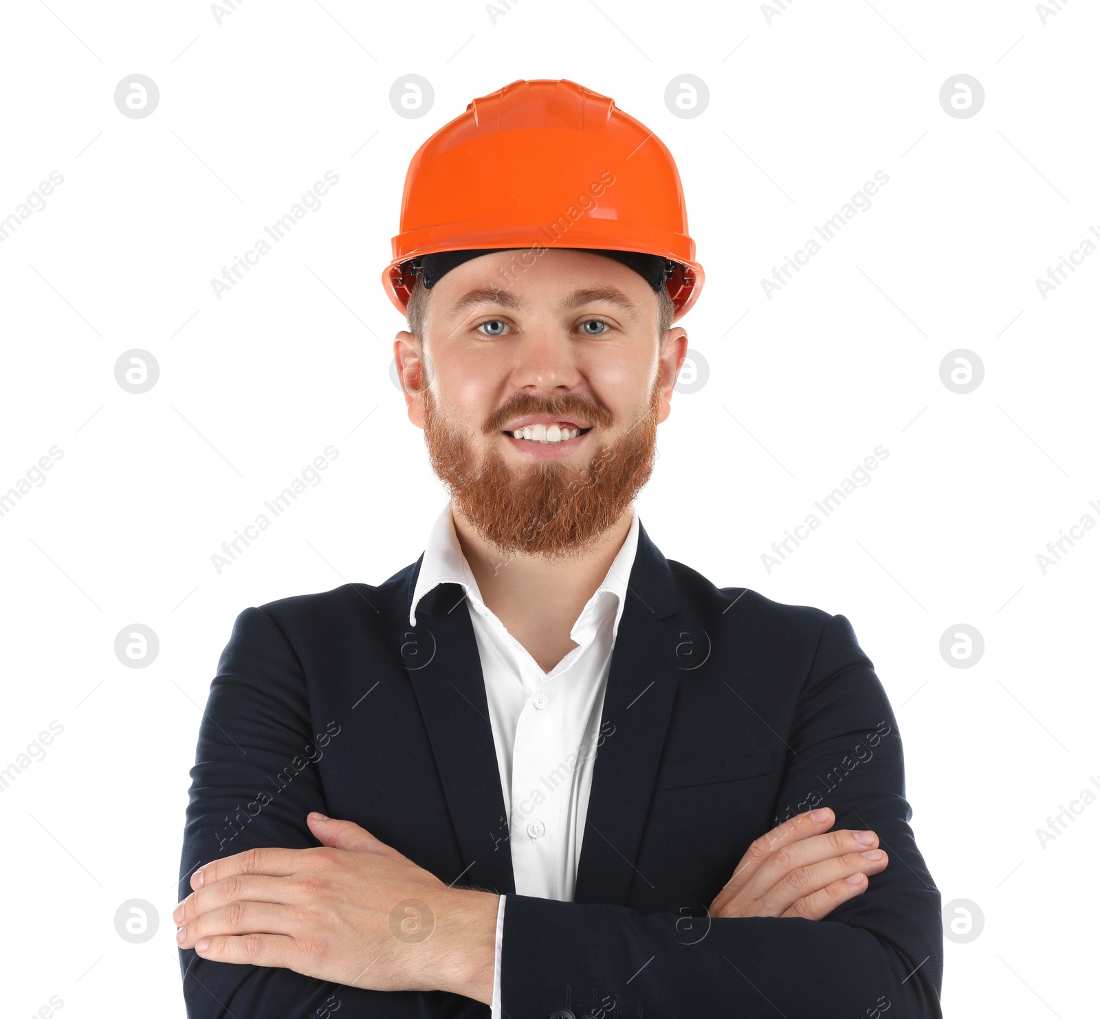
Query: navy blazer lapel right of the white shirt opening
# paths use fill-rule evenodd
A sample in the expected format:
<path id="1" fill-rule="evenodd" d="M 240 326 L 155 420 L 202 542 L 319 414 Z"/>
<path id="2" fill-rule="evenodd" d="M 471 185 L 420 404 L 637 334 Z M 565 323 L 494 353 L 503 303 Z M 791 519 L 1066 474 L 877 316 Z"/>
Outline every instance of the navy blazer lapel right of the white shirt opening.
<path id="1" fill-rule="evenodd" d="M 626 904 L 675 698 L 679 608 L 668 560 L 639 523 L 638 551 L 612 653 L 576 902 Z"/>

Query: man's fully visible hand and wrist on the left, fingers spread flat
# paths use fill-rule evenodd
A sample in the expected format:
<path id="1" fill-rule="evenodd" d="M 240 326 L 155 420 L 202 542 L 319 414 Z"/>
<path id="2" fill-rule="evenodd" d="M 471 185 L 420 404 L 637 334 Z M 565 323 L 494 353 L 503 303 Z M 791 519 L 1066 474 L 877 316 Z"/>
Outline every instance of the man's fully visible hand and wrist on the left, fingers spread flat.
<path id="1" fill-rule="evenodd" d="M 372 990 L 493 1000 L 499 896 L 452 888 L 352 821 L 311 813 L 315 849 L 251 849 L 191 875 L 180 948 Z"/>

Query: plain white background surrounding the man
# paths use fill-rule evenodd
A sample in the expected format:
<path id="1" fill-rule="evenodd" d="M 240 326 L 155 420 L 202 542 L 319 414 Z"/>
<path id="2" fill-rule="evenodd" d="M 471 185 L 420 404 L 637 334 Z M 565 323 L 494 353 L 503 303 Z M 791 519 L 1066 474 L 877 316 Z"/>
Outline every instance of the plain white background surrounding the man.
<path id="1" fill-rule="evenodd" d="M 503 10 L 503 4 L 499 5 Z M 1053 11 L 1052 3 L 1050 10 Z M 408 159 L 475 96 L 570 78 L 679 163 L 706 284 L 681 321 L 710 365 L 678 395 L 639 500 L 661 551 L 719 586 L 851 620 L 898 716 L 912 824 L 944 902 L 948 1016 L 1094 1008 L 1100 529 L 1096 455 L 1100 18 L 1075 2 L 521 0 L 361 4 L 11 0 L 0 35 L 0 490 L 63 457 L 0 517 L 0 767 L 64 732 L 0 798 L 4 1012 L 183 1016 L 170 911 L 195 741 L 237 613 L 413 562 L 446 495 L 388 375 L 404 321 L 380 276 Z M 116 86 L 160 88 L 144 119 Z M 418 74 L 420 119 L 389 104 Z M 692 74 L 698 117 L 664 103 Z M 985 88 L 969 119 L 941 86 Z M 339 184 L 230 292 L 210 280 L 326 170 Z M 769 299 L 761 278 L 876 170 L 889 184 Z M 1093 242 L 1100 240 L 1092 237 Z M 1078 256 L 1080 257 L 1080 256 Z M 143 395 L 114 364 L 161 368 Z M 948 352 L 985 365 L 972 392 Z M 364 420 L 365 419 L 365 420 Z M 219 575 L 211 553 L 327 445 L 339 458 Z M 761 554 L 877 445 L 889 458 L 770 573 Z M 140 622 L 157 658 L 127 668 Z M 986 651 L 950 667 L 941 635 Z M 1100 791 L 1100 790 L 1098 790 Z M 152 940 L 119 906 L 158 912 Z"/>

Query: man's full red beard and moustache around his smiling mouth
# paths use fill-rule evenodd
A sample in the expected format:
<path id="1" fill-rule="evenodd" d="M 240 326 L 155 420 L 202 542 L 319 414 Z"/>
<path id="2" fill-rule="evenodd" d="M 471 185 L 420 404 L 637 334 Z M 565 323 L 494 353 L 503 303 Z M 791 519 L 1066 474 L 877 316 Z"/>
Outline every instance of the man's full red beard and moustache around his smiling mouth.
<path id="1" fill-rule="evenodd" d="M 660 379 L 650 392 L 648 411 L 610 445 L 597 443 L 587 463 L 532 461 L 513 468 L 501 451 L 484 463 L 466 431 L 452 428 L 425 391 L 425 441 L 432 469 L 447 485 L 454 511 L 504 555 L 539 555 L 556 560 L 591 551 L 627 510 L 653 469 Z M 606 428 L 610 412 L 575 395 L 540 399 L 519 394 L 498 408 L 485 434 L 525 414 L 578 416 Z"/>

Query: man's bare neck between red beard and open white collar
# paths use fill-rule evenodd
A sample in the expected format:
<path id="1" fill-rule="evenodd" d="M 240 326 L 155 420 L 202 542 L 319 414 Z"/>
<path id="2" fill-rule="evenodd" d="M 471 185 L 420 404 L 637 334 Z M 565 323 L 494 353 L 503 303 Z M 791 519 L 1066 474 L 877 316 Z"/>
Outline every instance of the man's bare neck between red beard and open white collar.
<path id="1" fill-rule="evenodd" d="M 543 672 L 576 646 L 570 630 L 623 547 L 632 512 L 628 507 L 587 552 L 559 560 L 522 554 L 502 557 L 469 521 L 452 513 L 482 599 Z"/>

